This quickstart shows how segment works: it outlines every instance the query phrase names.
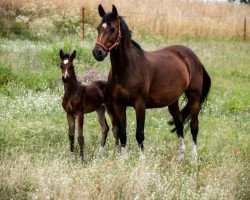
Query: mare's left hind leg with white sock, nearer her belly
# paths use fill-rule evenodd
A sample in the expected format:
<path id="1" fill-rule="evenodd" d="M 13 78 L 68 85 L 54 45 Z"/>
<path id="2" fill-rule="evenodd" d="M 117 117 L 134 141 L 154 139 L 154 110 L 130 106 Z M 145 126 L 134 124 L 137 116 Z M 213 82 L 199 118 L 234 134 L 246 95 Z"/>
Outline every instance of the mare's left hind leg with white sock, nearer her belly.
<path id="1" fill-rule="evenodd" d="M 178 141 L 179 143 L 178 159 L 182 160 L 185 154 L 185 143 L 184 143 L 184 135 L 183 135 L 183 120 L 182 120 L 181 112 L 179 109 L 178 101 L 169 105 L 168 110 L 174 119 L 176 132 L 177 132 L 177 136 L 179 140 Z"/>

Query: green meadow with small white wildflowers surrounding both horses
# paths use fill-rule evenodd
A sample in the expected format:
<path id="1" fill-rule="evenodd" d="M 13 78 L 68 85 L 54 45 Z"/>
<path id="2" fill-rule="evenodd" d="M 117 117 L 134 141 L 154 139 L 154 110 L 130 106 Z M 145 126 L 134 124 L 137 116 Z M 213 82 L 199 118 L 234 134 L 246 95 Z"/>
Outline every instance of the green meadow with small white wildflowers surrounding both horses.
<path id="1" fill-rule="evenodd" d="M 105 79 L 109 59 L 98 63 L 92 56 L 95 21 L 86 24 L 82 40 L 74 11 L 22 6 L 18 12 L 0 12 L 5 16 L 0 20 L 4 27 L 0 31 L 0 199 L 249 199 L 249 41 L 135 31 L 133 38 L 145 50 L 171 44 L 190 47 L 210 74 L 211 92 L 199 117 L 199 159 L 197 163 L 191 159 L 187 130 L 186 157 L 177 161 L 177 137 L 170 133 L 171 117 L 163 108 L 147 110 L 146 160 L 139 162 L 135 114 L 128 108 L 129 159 L 114 154 L 111 131 L 99 155 L 100 128 L 91 113 L 85 118 L 82 165 L 78 150 L 69 152 L 59 50 L 77 51 L 79 80 Z"/>

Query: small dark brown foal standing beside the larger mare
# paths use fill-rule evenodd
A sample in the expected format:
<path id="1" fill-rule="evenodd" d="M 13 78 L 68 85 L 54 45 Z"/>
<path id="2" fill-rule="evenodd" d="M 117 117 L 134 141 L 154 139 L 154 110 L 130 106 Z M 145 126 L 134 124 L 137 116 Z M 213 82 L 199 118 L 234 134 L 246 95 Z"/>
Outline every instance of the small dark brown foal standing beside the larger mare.
<path id="1" fill-rule="evenodd" d="M 61 58 L 61 72 L 62 82 L 64 85 L 64 96 L 62 100 L 62 107 L 67 113 L 67 120 L 69 126 L 69 141 L 70 151 L 74 152 L 75 140 L 75 121 L 78 123 L 78 143 L 80 146 L 80 157 L 83 162 L 83 149 L 84 149 L 84 136 L 83 136 L 83 123 L 84 114 L 96 111 L 98 121 L 101 126 L 102 140 L 101 149 L 104 148 L 109 126 L 105 118 L 105 110 L 107 110 L 111 122 L 114 137 L 116 138 L 116 145 L 119 145 L 117 137 L 117 127 L 114 121 L 114 115 L 110 109 L 109 97 L 107 93 L 107 81 L 93 81 L 89 85 L 77 81 L 76 73 L 74 70 L 73 60 L 76 56 L 76 51 L 69 55 L 64 54 L 60 50 Z"/>

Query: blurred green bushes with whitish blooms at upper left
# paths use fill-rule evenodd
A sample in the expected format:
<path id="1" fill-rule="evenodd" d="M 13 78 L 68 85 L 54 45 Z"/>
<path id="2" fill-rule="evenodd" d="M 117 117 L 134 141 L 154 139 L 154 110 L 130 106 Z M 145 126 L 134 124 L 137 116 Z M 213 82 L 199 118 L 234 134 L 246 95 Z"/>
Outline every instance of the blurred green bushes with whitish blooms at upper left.
<path id="1" fill-rule="evenodd" d="M 46 40 L 68 34 L 81 35 L 81 15 L 77 10 L 59 10 L 53 4 L 38 7 L 25 4 L 18 10 L 0 8 L 0 36 Z"/>

